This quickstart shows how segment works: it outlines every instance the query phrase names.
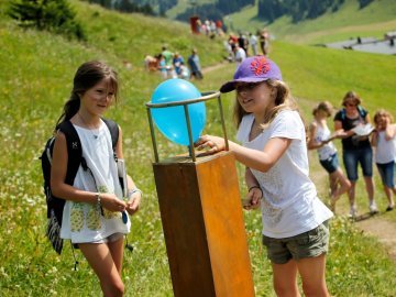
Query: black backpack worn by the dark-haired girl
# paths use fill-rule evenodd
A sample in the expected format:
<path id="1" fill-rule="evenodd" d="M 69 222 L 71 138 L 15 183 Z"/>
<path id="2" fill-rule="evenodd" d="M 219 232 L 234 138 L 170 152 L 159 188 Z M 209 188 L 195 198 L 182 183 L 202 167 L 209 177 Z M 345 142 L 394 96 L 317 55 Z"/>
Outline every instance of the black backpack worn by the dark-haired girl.
<path id="1" fill-rule="evenodd" d="M 119 127 L 116 122 L 111 120 L 107 120 L 107 119 L 102 119 L 102 120 L 110 131 L 114 160 L 117 162 L 116 146 L 119 139 Z M 81 165 L 84 170 L 88 169 L 87 163 L 82 157 L 81 142 L 78 138 L 78 133 L 76 129 L 73 127 L 73 123 L 70 121 L 63 121 L 56 127 L 56 129 L 62 131 L 66 136 L 68 163 L 67 163 L 67 174 L 65 182 L 67 185 L 73 186 L 79 166 Z M 63 209 L 66 201 L 65 199 L 53 196 L 51 191 L 51 166 L 52 166 L 54 143 L 55 143 L 55 136 L 48 139 L 40 160 L 42 162 L 42 170 L 44 177 L 44 194 L 47 205 L 48 222 L 46 229 L 46 237 L 51 241 L 54 250 L 58 254 L 61 254 L 63 249 L 63 239 L 61 238 L 61 227 L 62 227 Z"/>

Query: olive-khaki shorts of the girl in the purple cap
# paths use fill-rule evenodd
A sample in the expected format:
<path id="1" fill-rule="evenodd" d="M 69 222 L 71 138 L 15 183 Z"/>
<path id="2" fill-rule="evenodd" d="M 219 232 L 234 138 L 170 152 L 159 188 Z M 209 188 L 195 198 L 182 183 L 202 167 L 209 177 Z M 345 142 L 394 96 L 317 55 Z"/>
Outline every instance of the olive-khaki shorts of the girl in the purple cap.
<path id="1" fill-rule="evenodd" d="M 301 234 L 274 239 L 263 235 L 263 244 L 267 248 L 267 256 L 275 264 L 286 264 L 290 258 L 296 261 L 315 257 L 329 250 L 329 222 Z"/>

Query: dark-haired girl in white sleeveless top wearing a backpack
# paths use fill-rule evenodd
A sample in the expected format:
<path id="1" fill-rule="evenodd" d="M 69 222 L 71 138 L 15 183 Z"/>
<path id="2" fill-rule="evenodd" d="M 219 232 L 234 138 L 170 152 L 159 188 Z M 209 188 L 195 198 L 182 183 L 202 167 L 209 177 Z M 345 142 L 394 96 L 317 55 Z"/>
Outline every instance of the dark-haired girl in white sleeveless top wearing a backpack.
<path id="1" fill-rule="evenodd" d="M 123 235 L 131 226 L 125 211 L 138 211 L 142 195 L 128 176 L 128 201 L 123 201 L 113 155 L 123 160 L 122 132 L 119 128 L 113 152 L 110 131 L 101 118 L 117 95 L 117 73 L 105 63 L 87 62 L 77 69 L 70 99 L 58 122 L 72 122 L 88 169 L 80 165 L 74 184 L 65 183 L 68 148 L 65 134 L 57 131 L 51 170 L 54 196 L 66 200 L 61 237 L 78 245 L 97 274 L 103 296 L 123 295 Z"/>

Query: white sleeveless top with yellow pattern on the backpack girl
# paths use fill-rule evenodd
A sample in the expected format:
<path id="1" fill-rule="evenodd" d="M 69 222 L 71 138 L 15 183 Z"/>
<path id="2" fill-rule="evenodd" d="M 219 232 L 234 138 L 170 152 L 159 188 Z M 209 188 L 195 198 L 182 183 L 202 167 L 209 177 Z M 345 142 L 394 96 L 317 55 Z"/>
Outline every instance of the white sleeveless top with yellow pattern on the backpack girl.
<path id="1" fill-rule="evenodd" d="M 109 129 L 103 121 L 97 130 L 74 127 L 81 142 L 82 156 L 92 173 L 84 170 L 80 165 L 74 187 L 94 193 L 113 193 L 122 199 Z M 127 223 L 123 223 L 121 212 L 112 212 L 105 208 L 102 210 L 103 215 L 97 205 L 66 200 L 61 238 L 70 239 L 73 243 L 84 243 L 100 241 L 118 232 L 130 232 L 129 218 Z"/>

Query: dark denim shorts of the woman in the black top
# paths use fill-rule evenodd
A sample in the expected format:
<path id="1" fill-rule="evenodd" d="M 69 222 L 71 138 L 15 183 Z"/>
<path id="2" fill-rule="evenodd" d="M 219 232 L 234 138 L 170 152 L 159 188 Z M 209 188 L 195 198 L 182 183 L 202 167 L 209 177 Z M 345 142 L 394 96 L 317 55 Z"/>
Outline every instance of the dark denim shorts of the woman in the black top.
<path id="1" fill-rule="evenodd" d="M 363 176 L 373 176 L 373 150 L 371 146 L 359 150 L 345 150 L 342 152 L 348 179 L 358 180 L 358 164 L 362 166 Z"/>

